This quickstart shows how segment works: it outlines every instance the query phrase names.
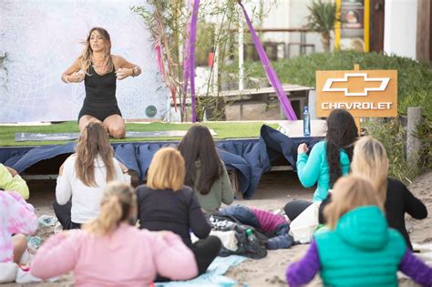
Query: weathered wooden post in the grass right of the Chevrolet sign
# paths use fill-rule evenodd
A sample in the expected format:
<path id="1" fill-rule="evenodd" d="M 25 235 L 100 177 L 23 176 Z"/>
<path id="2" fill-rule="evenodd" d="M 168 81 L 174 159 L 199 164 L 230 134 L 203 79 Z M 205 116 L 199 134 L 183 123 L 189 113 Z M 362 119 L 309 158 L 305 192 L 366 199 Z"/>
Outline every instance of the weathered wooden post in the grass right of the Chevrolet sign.
<path id="1" fill-rule="evenodd" d="M 417 127 L 422 123 L 422 108 L 408 108 L 408 123 L 406 125 L 406 160 L 408 167 L 415 168 L 418 155 L 421 149 L 421 139 L 417 138 L 414 133 Z"/>

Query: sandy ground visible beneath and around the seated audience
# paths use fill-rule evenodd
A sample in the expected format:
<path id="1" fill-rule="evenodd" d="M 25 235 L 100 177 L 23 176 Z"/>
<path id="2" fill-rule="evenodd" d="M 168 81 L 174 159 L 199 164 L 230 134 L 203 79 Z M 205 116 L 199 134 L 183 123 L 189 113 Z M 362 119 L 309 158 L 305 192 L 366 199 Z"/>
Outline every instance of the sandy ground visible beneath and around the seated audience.
<path id="1" fill-rule="evenodd" d="M 35 205 L 36 212 L 53 215 L 52 201 L 54 200 L 55 182 L 30 182 L 30 202 Z M 426 220 L 412 220 L 407 218 L 407 227 L 413 242 L 432 242 L 432 170 L 418 177 L 409 189 L 425 204 L 429 211 Z M 258 190 L 253 200 L 236 200 L 246 206 L 255 206 L 263 210 L 276 210 L 295 199 L 312 200 L 313 190 L 305 190 L 301 187 L 296 174 L 292 171 L 277 171 L 263 175 Z M 53 228 L 45 228 L 38 231 L 38 235 L 46 238 L 53 232 Z M 286 265 L 300 258 L 306 251 L 308 245 L 293 246 L 288 250 L 269 251 L 267 257 L 261 260 L 247 260 L 242 264 L 231 268 L 227 276 L 239 282 L 239 286 L 286 286 L 284 271 Z M 431 258 L 432 260 L 432 258 Z M 416 286 L 408 279 L 400 279 L 401 286 Z M 319 276 L 308 286 L 319 286 Z M 7 284 L 6 286 L 21 286 L 20 284 Z M 54 283 L 31 283 L 22 286 L 73 286 L 71 274 L 61 277 L 59 282 Z"/>

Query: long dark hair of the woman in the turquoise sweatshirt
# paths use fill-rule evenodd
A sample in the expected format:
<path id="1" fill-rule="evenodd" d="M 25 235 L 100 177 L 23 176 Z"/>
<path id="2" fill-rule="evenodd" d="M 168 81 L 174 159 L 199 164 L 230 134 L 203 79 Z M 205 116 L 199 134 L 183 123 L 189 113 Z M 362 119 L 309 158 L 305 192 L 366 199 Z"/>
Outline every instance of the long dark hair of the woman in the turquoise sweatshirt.
<path id="1" fill-rule="evenodd" d="M 345 109 L 334 109 L 327 118 L 327 163 L 330 172 L 330 189 L 342 176 L 340 151 L 345 149 L 348 159 L 353 159 L 354 142 L 357 138 L 357 127 L 353 116 Z"/>

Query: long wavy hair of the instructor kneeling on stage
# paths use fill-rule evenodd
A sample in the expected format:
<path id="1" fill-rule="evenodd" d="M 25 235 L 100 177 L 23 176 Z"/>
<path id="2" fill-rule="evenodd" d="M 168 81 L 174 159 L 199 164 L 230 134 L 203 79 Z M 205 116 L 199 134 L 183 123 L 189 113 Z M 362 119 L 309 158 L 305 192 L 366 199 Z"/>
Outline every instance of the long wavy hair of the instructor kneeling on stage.
<path id="1" fill-rule="evenodd" d="M 81 60 L 81 70 L 83 70 L 88 76 L 90 76 L 89 67 L 90 67 L 90 65 L 92 65 L 92 61 L 93 61 L 93 50 L 90 46 L 90 37 L 91 37 L 91 34 L 93 33 L 93 31 L 98 31 L 100 36 L 102 36 L 102 38 L 104 39 L 104 42 L 106 44 L 106 47 L 103 51 L 103 54 L 104 54 L 103 63 L 104 64 L 102 66 L 102 70 L 96 70 L 96 68 L 95 68 L 95 71 L 101 75 L 108 74 L 109 72 L 111 72 L 114 69 L 114 62 L 112 61 L 112 58 L 111 58 L 111 37 L 109 36 L 108 31 L 105 30 L 104 28 L 101 28 L 101 27 L 94 27 L 90 30 L 90 32 L 88 32 L 87 40 L 86 40 L 86 42 L 83 43 L 86 47 L 81 52 L 81 55 L 79 55 L 79 57 L 78 57 L 78 59 Z"/>

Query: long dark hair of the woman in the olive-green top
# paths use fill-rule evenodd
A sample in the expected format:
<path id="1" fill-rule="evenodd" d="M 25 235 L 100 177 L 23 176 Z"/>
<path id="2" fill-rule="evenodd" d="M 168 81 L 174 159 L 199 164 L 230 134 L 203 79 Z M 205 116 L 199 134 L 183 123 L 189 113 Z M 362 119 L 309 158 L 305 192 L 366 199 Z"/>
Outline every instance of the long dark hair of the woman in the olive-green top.
<path id="1" fill-rule="evenodd" d="M 195 185 L 195 161 L 201 161 L 201 174 L 197 189 L 201 194 L 208 194 L 214 181 L 221 177 L 221 159 L 219 159 L 209 128 L 201 125 L 192 126 L 183 139 L 179 150 L 185 160 L 186 178 L 184 184 L 191 188 Z"/>

